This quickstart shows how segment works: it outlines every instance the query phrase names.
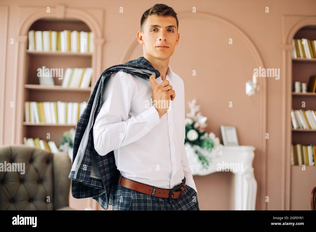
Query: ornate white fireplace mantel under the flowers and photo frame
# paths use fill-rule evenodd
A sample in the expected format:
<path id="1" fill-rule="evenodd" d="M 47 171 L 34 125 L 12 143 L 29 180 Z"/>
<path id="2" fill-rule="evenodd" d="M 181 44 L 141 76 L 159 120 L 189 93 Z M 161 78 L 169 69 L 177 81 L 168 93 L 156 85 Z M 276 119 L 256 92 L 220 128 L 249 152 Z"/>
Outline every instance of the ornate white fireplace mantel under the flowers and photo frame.
<path id="1" fill-rule="evenodd" d="M 203 155 L 211 157 L 207 169 L 203 169 L 201 161 L 189 144 L 185 144 L 192 175 L 208 175 L 220 170 L 234 173 L 235 210 L 255 210 L 257 196 L 257 181 L 254 177 L 252 161 L 255 147 L 253 146 L 223 146 L 207 153 L 195 146 Z"/>

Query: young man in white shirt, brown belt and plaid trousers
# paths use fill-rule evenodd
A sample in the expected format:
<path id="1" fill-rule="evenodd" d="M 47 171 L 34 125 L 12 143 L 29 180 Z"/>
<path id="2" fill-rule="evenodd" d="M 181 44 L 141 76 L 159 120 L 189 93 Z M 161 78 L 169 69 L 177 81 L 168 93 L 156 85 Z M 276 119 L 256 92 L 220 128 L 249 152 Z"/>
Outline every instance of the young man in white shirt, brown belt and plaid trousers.
<path id="1" fill-rule="evenodd" d="M 145 11 L 137 39 L 160 77 L 119 71 L 105 85 L 93 137 L 98 154 L 114 151 L 120 171 L 113 210 L 199 210 L 184 148 L 184 83 L 169 66 L 178 26 L 165 4 Z"/>

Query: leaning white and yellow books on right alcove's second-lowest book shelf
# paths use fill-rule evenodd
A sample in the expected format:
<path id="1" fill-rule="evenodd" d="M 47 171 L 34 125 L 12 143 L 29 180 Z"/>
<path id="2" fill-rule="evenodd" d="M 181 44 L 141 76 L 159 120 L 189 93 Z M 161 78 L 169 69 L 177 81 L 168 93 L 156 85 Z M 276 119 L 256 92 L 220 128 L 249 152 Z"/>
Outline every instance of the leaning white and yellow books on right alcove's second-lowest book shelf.
<path id="1" fill-rule="evenodd" d="M 293 129 L 316 130 L 316 115 L 314 110 L 291 110 Z"/>

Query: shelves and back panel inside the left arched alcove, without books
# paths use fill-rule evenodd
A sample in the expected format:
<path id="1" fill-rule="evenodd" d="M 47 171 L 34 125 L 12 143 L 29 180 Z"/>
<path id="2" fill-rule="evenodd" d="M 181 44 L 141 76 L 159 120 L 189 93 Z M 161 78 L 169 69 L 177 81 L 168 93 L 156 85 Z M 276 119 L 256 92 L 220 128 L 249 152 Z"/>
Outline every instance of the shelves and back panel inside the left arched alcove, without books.
<path id="1" fill-rule="evenodd" d="M 35 21 L 28 31 L 84 31 L 91 32 L 90 28 L 82 21 L 76 19 L 39 19 Z M 26 101 L 35 102 L 88 102 L 92 93 L 95 78 L 91 80 L 88 88 L 64 88 L 61 86 L 63 80 L 58 77 L 53 77 L 55 86 L 40 85 L 39 77 L 37 76 L 37 68 L 47 66 L 48 68 L 86 68 L 92 67 L 95 73 L 93 56 L 95 53 L 95 46 L 93 52 L 61 52 L 61 51 L 29 51 L 28 39 L 25 48 L 25 80 L 23 82 L 22 104 Z M 21 140 L 24 137 L 44 139 L 54 141 L 56 146 L 60 146 L 60 137 L 65 131 L 70 128 L 76 128 L 76 124 L 49 124 L 49 123 L 31 123 L 24 120 L 24 106 L 23 106 L 23 122 Z M 48 134 L 49 133 L 49 134 Z M 49 138 L 47 137 L 49 135 Z"/>

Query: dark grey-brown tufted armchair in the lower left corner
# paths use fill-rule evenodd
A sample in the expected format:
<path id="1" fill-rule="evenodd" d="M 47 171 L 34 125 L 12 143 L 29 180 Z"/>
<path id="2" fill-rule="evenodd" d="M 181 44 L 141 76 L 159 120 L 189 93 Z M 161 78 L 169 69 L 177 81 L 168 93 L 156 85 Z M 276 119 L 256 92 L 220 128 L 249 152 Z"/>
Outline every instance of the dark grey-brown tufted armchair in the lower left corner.
<path id="1" fill-rule="evenodd" d="M 70 169 L 71 160 L 63 152 L 0 146 L 0 210 L 73 210 Z"/>

